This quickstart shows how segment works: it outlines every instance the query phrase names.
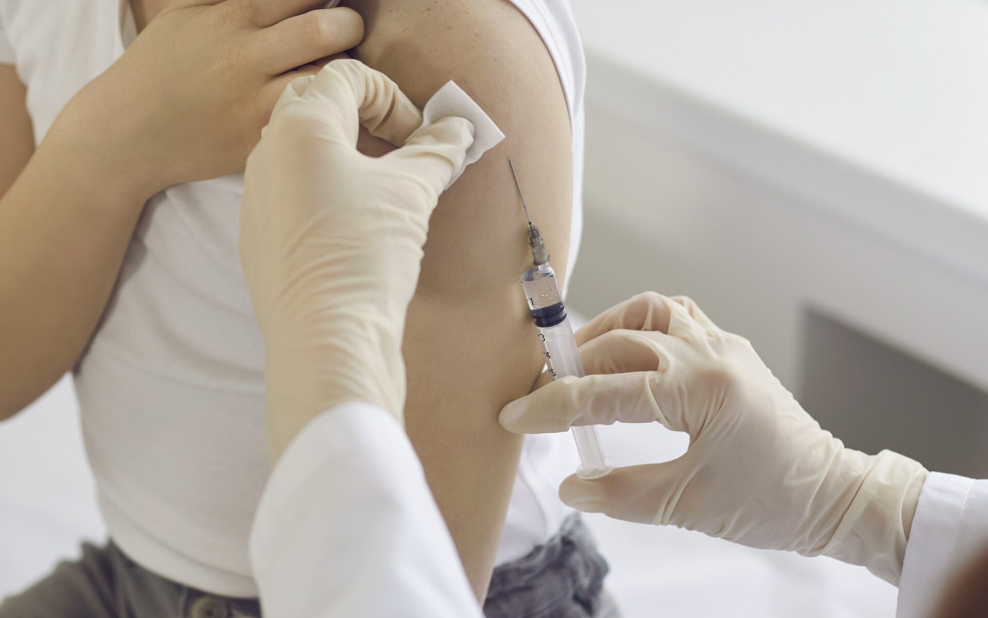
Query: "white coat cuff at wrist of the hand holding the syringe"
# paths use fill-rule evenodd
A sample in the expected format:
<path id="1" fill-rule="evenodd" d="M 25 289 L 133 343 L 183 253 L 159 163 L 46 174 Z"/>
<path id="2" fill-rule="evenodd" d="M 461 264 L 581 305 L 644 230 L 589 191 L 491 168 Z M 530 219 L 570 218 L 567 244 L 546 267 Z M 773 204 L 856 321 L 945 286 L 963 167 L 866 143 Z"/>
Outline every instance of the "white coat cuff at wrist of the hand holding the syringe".
<path id="1" fill-rule="evenodd" d="M 988 481 L 933 472 L 916 505 L 896 618 L 929 618 L 944 585 L 988 549 Z"/>

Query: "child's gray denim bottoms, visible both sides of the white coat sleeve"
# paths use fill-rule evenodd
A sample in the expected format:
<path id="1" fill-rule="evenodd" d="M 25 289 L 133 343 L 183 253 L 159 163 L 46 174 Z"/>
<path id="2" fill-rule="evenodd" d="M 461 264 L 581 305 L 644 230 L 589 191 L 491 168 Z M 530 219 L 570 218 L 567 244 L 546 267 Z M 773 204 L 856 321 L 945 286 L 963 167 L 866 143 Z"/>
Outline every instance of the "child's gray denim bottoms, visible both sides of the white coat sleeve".
<path id="1" fill-rule="evenodd" d="M 487 618 L 617 618 L 608 567 L 578 517 L 514 563 L 494 570 Z M 111 542 L 83 545 L 47 578 L 0 603 L 0 618 L 260 618 L 257 599 L 208 594 L 136 565 Z"/>

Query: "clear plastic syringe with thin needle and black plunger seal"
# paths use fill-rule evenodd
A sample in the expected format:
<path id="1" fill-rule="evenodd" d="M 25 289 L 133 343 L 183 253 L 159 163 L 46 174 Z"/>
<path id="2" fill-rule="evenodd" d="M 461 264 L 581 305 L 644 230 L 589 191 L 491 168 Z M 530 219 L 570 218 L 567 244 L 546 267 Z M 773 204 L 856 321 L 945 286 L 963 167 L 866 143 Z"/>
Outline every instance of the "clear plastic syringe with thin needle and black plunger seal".
<path id="1" fill-rule="evenodd" d="M 515 162 L 508 158 L 511 173 L 518 186 L 518 194 L 525 208 L 525 218 L 529 222 L 529 247 L 535 268 L 522 274 L 522 287 L 529 300 L 529 310 L 538 328 L 538 341 L 545 354 L 545 365 L 553 380 L 569 375 L 583 377 L 583 361 L 573 338 L 573 328 L 566 317 L 566 307 L 562 303 L 562 293 L 556 283 L 555 272 L 549 266 L 549 253 L 542 242 L 538 228 L 529 216 L 529 206 L 525 203 L 522 184 L 515 172 Z M 576 450 L 580 453 L 580 469 L 576 475 L 581 479 L 596 479 L 614 469 L 614 463 L 604 456 L 601 438 L 594 425 L 574 426 L 570 430 L 576 440 Z"/>

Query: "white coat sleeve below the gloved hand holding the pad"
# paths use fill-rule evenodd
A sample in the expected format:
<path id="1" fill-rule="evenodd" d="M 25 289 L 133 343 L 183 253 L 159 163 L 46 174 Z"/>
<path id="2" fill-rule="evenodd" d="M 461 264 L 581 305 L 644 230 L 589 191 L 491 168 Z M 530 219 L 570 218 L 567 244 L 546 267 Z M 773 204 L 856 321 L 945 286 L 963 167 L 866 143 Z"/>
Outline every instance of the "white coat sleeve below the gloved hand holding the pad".
<path id="1" fill-rule="evenodd" d="M 408 437 L 371 404 L 335 406 L 288 445 L 250 560 L 266 618 L 482 618 Z"/>

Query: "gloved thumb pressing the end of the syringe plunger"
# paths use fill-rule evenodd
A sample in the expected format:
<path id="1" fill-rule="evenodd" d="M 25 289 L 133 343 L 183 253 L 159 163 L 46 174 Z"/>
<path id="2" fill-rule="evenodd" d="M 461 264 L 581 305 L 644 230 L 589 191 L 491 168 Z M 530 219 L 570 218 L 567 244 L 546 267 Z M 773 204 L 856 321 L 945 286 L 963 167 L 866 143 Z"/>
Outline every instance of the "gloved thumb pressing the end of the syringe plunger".
<path id="1" fill-rule="evenodd" d="M 634 523 L 667 524 L 687 481 L 678 462 L 615 468 L 597 479 L 572 475 L 559 486 L 559 499 L 583 512 L 601 512 Z"/>

